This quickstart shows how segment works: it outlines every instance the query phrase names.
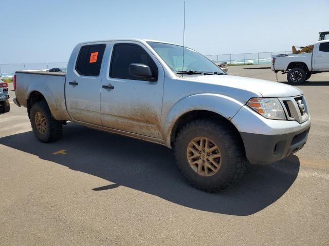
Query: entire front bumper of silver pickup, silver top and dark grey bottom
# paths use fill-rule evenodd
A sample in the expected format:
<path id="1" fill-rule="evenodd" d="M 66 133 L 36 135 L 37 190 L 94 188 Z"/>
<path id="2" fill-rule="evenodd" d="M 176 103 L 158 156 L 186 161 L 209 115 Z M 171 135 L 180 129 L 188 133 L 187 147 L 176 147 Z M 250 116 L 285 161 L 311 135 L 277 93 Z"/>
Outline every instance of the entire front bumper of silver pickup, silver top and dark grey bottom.
<path id="1" fill-rule="evenodd" d="M 299 151 L 306 143 L 310 117 L 296 120 L 267 119 L 247 106 L 231 119 L 240 132 L 247 159 L 252 164 L 269 164 Z"/>

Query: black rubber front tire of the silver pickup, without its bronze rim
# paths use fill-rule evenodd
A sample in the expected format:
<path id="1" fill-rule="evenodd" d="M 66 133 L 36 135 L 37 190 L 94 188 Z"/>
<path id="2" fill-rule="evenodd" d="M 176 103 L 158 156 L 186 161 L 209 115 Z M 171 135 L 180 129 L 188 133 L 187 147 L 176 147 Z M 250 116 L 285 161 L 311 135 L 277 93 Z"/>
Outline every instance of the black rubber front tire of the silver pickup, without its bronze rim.
<path id="1" fill-rule="evenodd" d="M 189 164 L 187 151 L 192 139 L 211 139 L 221 153 L 221 166 L 212 176 L 199 175 Z M 199 190 L 217 192 L 240 180 L 246 170 L 246 156 L 239 133 L 225 121 L 195 120 L 183 127 L 174 145 L 176 165 L 190 185 Z"/>

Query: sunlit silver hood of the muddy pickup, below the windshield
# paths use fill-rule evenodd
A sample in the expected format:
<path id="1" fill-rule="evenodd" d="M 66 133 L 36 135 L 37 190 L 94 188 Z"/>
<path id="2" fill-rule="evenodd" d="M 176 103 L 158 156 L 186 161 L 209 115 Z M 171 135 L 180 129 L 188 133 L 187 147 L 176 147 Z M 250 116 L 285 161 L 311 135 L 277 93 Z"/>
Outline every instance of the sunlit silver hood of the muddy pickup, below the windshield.
<path id="1" fill-rule="evenodd" d="M 249 92 L 248 94 L 257 94 L 262 97 L 292 97 L 303 94 L 303 91 L 297 87 L 257 78 L 232 75 L 191 75 L 184 76 L 182 79 L 217 85 L 223 87 L 223 89 L 226 87 L 227 89 L 243 90 Z"/>

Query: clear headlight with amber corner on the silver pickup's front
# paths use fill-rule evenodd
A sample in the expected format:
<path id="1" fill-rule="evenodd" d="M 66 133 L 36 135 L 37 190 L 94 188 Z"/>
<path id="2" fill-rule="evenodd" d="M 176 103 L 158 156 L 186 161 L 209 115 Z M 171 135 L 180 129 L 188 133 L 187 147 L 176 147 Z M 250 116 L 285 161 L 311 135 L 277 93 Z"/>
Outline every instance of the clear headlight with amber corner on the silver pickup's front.
<path id="1" fill-rule="evenodd" d="M 247 105 L 268 119 L 286 119 L 278 98 L 252 98 Z"/>

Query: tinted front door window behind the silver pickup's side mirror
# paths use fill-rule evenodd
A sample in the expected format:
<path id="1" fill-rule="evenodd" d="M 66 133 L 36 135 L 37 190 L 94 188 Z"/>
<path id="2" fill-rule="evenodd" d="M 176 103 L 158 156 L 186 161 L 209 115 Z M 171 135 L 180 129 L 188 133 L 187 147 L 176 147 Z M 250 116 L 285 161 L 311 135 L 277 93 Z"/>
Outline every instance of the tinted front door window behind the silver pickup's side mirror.
<path id="1" fill-rule="evenodd" d="M 132 63 L 149 66 L 153 77 L 158 78 L 158 68 L 151 56 L 142 47 L 135 44 L 116 44 L 114 46 L 109 76 L 112 78 L 143 80 L 129 73 L 129 65 Z"/>

